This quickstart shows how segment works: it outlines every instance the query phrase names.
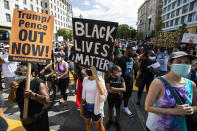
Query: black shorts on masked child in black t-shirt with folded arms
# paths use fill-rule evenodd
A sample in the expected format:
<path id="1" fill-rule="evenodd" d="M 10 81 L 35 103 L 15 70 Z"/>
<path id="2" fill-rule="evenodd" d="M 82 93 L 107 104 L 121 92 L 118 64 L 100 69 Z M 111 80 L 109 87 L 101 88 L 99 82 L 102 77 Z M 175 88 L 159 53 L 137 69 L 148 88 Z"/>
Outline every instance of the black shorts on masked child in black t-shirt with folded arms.
<path id="1" fill-rule="evenodd" d="M 114 98 L 112 96 L 108 96 L 107 97 L 107 101 L 108 101 L 108 106 L 109 107 L 116 107 L 116 108 L 120 108 L 121 103 L 122 103 L 122 98 L 120 96 L 120 98 Z"/>

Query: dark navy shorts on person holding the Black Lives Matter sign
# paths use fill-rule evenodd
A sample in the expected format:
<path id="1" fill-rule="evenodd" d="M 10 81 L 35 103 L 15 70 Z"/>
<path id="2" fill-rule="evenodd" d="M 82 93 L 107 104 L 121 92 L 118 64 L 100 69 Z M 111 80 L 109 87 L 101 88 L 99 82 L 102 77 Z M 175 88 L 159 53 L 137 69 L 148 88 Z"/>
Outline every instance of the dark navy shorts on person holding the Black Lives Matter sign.
<path id="1" fill-rule="evenodd" d="M 91 106 L 94 106 L 94 105 L 91 105 Z M 84 118 L 86 118 L 86 119 L 91 118 L 94 122 L 98 122 L 102 118 L 101 113 L 98 114 L 98 115 L 95 115 L 94 114 L 94 107 L 93 108 L 88 108 L 87 104 L 83 104 L 83 115 L 84 115 Z"/>

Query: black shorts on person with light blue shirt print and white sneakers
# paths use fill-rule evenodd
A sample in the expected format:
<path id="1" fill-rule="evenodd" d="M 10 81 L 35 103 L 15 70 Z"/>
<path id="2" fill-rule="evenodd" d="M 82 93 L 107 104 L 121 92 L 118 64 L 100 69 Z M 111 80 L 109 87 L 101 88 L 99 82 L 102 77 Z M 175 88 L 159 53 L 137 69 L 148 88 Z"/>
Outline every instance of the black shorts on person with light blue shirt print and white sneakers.
<path id="1" fill-rule="evenodd" d="M 133 78 L 126 77 L 125 84 L 126 84 L 126 92 L 123 93 L 123 99 L 131 97 L 133 91 Z"/>

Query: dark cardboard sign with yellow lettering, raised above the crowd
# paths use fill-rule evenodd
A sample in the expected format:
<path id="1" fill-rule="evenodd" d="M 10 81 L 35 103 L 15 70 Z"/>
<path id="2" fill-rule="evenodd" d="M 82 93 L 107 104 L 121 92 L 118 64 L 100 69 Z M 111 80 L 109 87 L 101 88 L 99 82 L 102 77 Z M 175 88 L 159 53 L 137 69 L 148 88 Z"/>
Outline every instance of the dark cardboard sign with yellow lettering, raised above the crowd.
<path id="1" fill-rule="evenodd" d="M 176 42 L 176 32 L 159 32 L 157 36 L 157 46 L 173 48 Z"/>

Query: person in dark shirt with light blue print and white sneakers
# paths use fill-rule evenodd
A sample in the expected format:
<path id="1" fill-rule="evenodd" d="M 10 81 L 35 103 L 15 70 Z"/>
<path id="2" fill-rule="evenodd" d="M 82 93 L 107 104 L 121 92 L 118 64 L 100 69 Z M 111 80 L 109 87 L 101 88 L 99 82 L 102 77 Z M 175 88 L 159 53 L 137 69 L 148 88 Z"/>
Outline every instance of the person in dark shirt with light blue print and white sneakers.
<path id="1" fill-rule="evenodd" d="M 122 56 L 117 62 L 117 65 L 120 66 L 122 69 L 122 77 L 124 78 L 126 84 L 126 92 L 123 93 L 123 111 L 129 117 L 133 116 L 133 113 L 128 108 L 129 98 L 131 97 L 133 91 L 134 60 L 132 57 L 133 53 L 135 52 L 133 49 L 134 48 L 132 47 L 131 43 L 129 43 L 124 56 Z"/>

